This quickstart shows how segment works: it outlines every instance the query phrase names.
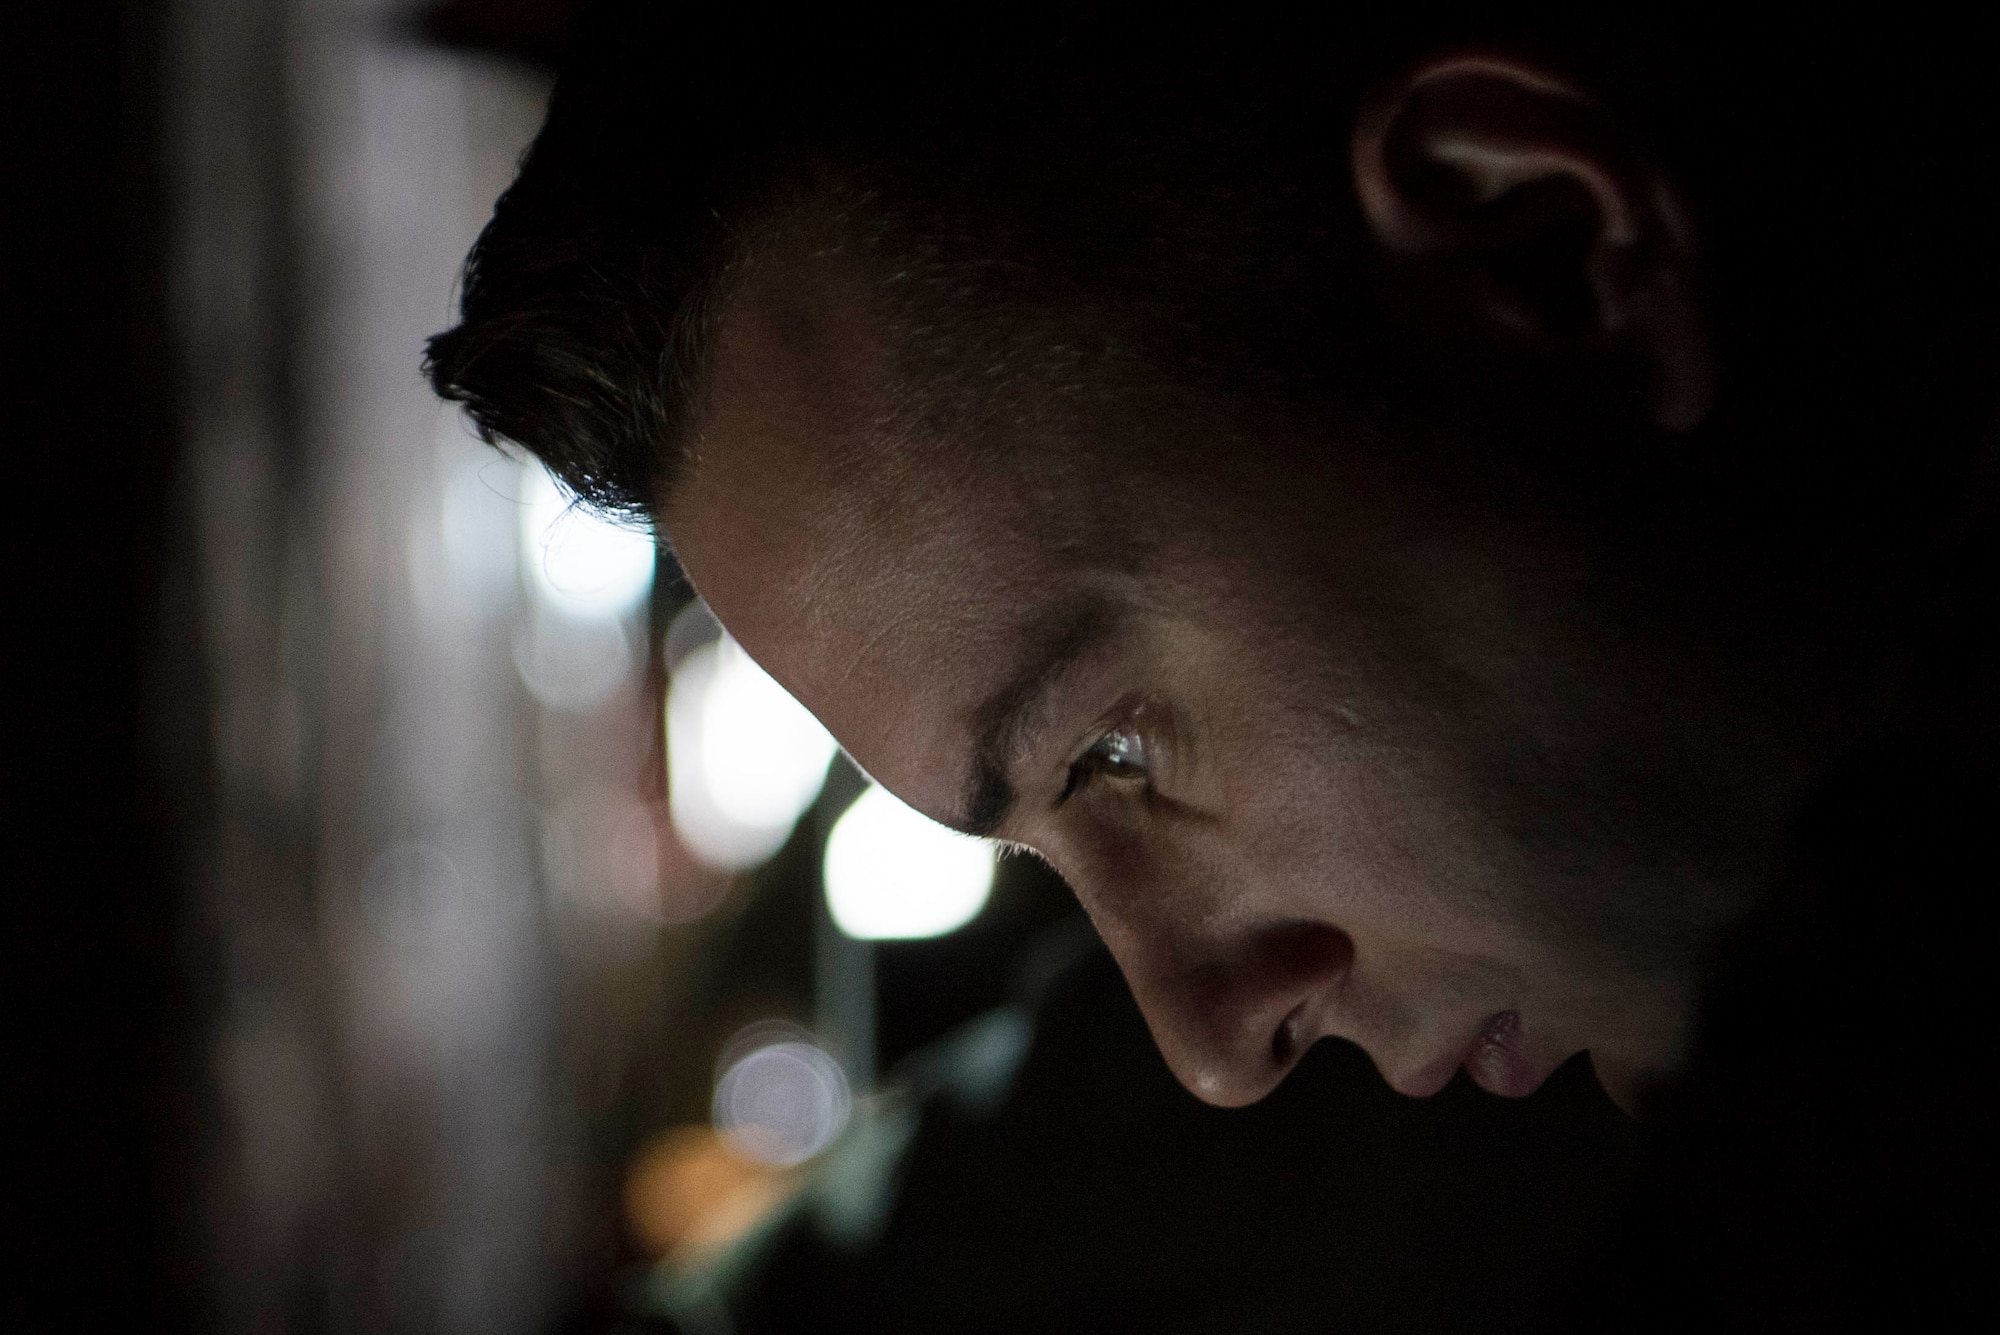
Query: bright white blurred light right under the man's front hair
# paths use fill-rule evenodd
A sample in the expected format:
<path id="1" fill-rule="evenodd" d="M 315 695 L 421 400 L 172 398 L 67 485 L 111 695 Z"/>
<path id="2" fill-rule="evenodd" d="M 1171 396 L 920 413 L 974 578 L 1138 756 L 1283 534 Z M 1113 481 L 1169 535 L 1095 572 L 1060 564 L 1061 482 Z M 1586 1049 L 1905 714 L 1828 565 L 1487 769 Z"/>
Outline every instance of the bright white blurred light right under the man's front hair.
<path id="1" fill-rule="evenodd" d="M 652 590 L 652 536 L 584 506 L 540 464 L 526 468 L 522 548 L 536 598 L 574 618 L 622 618 Z"/>

